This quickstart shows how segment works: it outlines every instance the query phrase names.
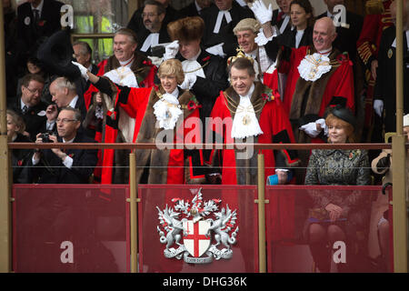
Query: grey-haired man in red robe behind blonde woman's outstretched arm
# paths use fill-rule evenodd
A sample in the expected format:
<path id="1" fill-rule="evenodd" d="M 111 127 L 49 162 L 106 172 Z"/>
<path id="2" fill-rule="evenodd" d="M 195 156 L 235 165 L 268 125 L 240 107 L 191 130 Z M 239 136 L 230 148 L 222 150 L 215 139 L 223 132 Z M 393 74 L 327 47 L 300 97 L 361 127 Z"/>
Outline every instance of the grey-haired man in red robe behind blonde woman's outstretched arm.
<path id="1" fill-rule="evenodd" d="M 136 51 L 136 46 L 136 36 L 132 30 L 127 28 L 118 30 L 114 36 L 114 55 L 98 65 L 99 72 L 97 75 L 106 75 L 113 82 L 130 87 L 150 87 L 154 85 L 157 68 L 152 65 L 145 55 Z M 129 70 L 133 72 L 133 75 L 128 74 Z M 114 110 L 104 113 L 105 115 L 115 116 L 115 118 L 106 118 L 104 115 L 101 119 L 101 116 L 95 116 L 95 112 L 99 112 L 99 110 L 96 109 L 98 105 L 96 105 L 95 100 L 93 101 L 92 95 L 95 95 L 97 91 L 94 85 L 90 85 L 84 95 L 85 105 L 88 109 L 86 120 L 99 119 L 99 122 L 103 123 L 102 126 L 96 126 L 95 128 L 102 128 L 102 132 L 96 132 L 95 140 L 105 143 L 132 142 L 135 119 L 130 117 L 122 107 L 117 106 Z M 93 123 L 89 122 L 86 125 L 93 126 Z M 128 153 L 127 150 L 114 149 L 99 151 L 98 166 L 102 166 L 102 168 L 95 168 L 95 179 L 100 179 L 103 184 L 127 183 L 128 173 L 125 167 L 122 166 L 128 165 Z M 121 167 L 116 167 L 114 170 L 114 165 Z"/>

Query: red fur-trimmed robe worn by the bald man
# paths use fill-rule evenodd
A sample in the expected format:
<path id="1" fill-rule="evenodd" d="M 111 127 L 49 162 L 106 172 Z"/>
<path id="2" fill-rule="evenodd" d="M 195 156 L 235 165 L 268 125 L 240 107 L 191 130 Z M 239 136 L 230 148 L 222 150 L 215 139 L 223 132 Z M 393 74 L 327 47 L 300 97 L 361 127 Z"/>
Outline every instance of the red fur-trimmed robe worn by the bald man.
<path id="1" fill-rule="evenodd" d="M 354 112 L 353 64 L 346 55 L 333 50 L 329 55 L 332 65 L 331 71 L 311 82 L 300 78 L 298 65 L 305 55 L 314 54 L 314 49 L 309 46 L 302 46 L 291 50 L 289 62 L 282 60 L 279 65 L 279 72 L 288 74 L 284 93 L 284 108 L 291 120 L 296 120 L 307 114 L 323 116 L 329 105 L 336 104 L 343 104 Z M 304 100 L 305 97 L 307 100 Z M 305 102 L 305 110 L 301 112 L 303 102 Z"/>

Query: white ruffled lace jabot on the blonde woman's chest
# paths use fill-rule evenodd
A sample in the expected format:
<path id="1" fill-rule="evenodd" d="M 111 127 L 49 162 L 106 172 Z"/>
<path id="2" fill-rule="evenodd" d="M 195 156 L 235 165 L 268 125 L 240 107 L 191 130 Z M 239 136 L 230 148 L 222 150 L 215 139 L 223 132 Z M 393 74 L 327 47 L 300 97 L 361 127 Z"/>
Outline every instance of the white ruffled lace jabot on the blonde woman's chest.
<path id="1" fill-rule="evenodd" d="M 175 89 L 171 94 L 164 94 L 162 98 L 156 101 L 154 105 L 154 114 L 156 116 L 156 128 L 174 129 L 179 116 L 183 114 L 180 109 L 177 96 L 179 90 Z"/>

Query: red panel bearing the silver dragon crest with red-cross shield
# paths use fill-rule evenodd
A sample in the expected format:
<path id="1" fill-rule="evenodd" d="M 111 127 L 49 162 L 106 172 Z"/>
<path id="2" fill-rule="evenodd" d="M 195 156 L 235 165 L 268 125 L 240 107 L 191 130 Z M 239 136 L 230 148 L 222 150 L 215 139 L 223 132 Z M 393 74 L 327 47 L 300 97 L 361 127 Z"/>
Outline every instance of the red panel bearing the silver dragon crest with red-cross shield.
<path id="1" fill-rule="evenodd" d="M 138 186 L 139 268 L 258 271 L 255 186 Z"/>

